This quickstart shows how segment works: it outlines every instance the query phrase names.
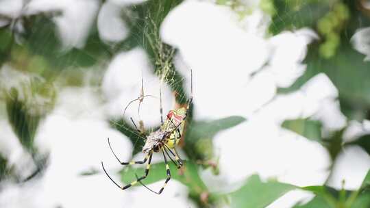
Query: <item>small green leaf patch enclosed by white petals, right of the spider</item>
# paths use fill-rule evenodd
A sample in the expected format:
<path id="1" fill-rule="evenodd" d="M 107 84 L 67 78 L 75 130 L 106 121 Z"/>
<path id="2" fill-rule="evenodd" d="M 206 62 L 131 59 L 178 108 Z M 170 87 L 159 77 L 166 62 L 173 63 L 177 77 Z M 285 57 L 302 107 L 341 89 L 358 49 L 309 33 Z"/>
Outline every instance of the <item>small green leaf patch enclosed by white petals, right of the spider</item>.
<path id="1" fill-rule="evenodd" d="M 321 140 L 321 122 L 318 120 L 296 119 L 285 120 L 282 127 L 289 129 L 310 140 Z"/>

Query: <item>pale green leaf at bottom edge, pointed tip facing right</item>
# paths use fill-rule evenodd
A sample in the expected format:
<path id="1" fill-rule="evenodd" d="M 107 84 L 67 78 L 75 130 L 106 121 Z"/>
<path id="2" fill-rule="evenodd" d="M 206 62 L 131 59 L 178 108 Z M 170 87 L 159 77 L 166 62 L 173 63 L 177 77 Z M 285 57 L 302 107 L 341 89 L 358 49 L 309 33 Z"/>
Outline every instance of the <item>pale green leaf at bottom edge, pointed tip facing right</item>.
<path id="1" fill-rule="evenodd" d="M 258 175 L 252 175 L 239 190 L 230 193 L 230 207 L 267 207 L 286 192 L 296 188 L 294 185 L 277 181 L 262 182 Z"/>

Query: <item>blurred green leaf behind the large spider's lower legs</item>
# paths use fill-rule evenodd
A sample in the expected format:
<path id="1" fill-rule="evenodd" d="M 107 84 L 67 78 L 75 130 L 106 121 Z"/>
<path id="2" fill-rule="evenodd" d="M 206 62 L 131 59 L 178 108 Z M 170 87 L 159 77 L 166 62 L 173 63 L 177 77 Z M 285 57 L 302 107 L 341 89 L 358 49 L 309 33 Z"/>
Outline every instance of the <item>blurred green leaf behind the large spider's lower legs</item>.
<path id="1" fill-rule="evenodd" d="M 171 161 L 169 161 L 169 163 L 170 162 Z M 169 168 L 171 170 L 171 179 L 175 179 L 186 185 L 190 190 L 190 195 L 195 196 L 201 194 L 202 192 L 206 192 L 206 185 L 204 185 L 203 181 L 199 177 L 197 165 L 193 162 L 186 161 L 183 168 L 180 170 L 177 169 L 173 164 L 169 164 Z M 136 180 L 135 174 L 137 174 L 138 177 L 141 177 L 144 175 L 144 173 L 145 168 L 133 168 L 130 166 L 121 171 L 121 181 L 125 184 L 131 183 L 132 181 Z M 151 164 L 149 174 L 142 182 L 145 185 L 149 185 L 156 181 L 166 179 L 166 177 L 167 172 L 164 162 Z M 171 183 L 171 181 L 169 183 Z M 136 185 L 140 185 L 140 183 L 136 183 Z M 158 191 L 159 188 L 160 187 L 158 187 Z"/>

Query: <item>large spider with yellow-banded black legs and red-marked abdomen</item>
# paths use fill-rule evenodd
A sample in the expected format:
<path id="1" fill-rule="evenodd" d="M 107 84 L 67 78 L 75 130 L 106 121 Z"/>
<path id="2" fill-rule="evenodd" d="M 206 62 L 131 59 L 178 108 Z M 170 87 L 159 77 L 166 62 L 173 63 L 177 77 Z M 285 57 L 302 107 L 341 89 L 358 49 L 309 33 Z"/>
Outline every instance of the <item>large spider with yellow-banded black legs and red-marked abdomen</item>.
<path id="1" fill-rule="evenodd" d="M 189 107 L 191 103 L 193 102 L 193 71 L 192 70 L 190 70 L 190 80 L 191 80 L 190 99 L 186 107 L 180 107 L 179 109 L 170 110 L 169 113 L 167 114 L 166 120 L 164 121 L 162 119 L 163 117 L 162 116 L 162 93 L 160 93 L 161 125 L 158 130 L 151 132 L 149 135 L 145 135 L 142 131 L 140 131 L 137 128 L 134 120 L 130 118 L 132 123 L 134 124 L 134 127 L 136 128 L 136 131 L 138 131 L 140 135 L 143 135 L 143 138 L 145 139 L 145 145 L 143 146 L 143 153 L 145 153 L 145 158 L 142 161 L 129 161 L 129 162 L 121 161 L 114 153 L 112 146 L 110 145 L 109 138 L 108 138 L 108 144 L 109 144 L 110 150 L 112 151 L 114 157 L 116 157 L 116 159 L 119 161 L 121 165 L 126 166 L 126 165 L 134 165 L 134 164 L 145 164 L 148 161 L 147 167 L 145 168 L 145 174 L 142 177 L 138 177 L 136 175 L 136 181 L 132 181 L 132 183 L 129 183 L 123 186 L 116 183 L 116 181 L 114 181 L 112 177 L 110 177 L 110 175 L 108 174 L 108 172 L 103 166 L 103 161 L 101 162 L 101 167 L 103 168 L 104 172 L 106 173 L 110 181 L 112 181 L 121 190 L 126 190 L 127 188 L 132 187 L 132 185 L 135 185 L 136 183 L 140 183 L 141 185 L 146 187 L 151 192 L 155 194 L 161 194 L 164 190 L 164 187 L 167 185 L 167 183 L 171 179 L 171 171 L 169 169 L 167 157 L 171 159 L 171 161 L 173 162 L 173 164 L 175 164 L 175 166 L 177 166 L 177 168 L 181 168 L 183 166 L 184 163 L 182 159 L 179 157 L 175 146 L 179 144 L 180 142 L 180 139 L 182 137 L 182 132 L 184 131 L 186 116 L 188 115 Z M 143 94 L 140 97 L 143 97 Z M 139 99 L 136 99 L 136 100 L 140 101 L 140 97 Z M 162 155 L 164 158 L 164 164 L 166 166 L 166 171 L 167 171 L 167 179 L 166 181 L 164 181 L 164 185 L 159 190 L 159 192 L 155 192 L 151 190 L 149 187 L 147 187 L 145 184 L 143 184 L 141 181 L 145 179 L 149 174 L 151 157 L 153 156 L 153 153 L 158 153 L 160 151 L 162 152 Z M 175 157 L 175 160 L 171 157 L 171 155 Z"/>

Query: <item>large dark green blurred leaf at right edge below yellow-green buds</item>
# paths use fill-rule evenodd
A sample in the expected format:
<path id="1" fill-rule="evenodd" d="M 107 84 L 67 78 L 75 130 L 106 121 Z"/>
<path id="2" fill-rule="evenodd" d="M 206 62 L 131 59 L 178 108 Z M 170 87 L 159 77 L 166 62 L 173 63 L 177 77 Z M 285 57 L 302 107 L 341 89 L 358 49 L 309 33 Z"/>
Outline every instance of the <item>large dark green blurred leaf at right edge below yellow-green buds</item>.
<path id="1" fill-rule="evenodd" d="M 370 62 L 364 62 L 365 55 L 355 51 L 345 37 L 336 55 L 323 59 L 319 45 L 312 44 L 306 57 L 307 69 L 291 88 L 280 92 L 292 92 L 319 73 L 325 73 L 338 88 L 341 110 L 349 119 L 362 120 L 370 109 Z"/>

